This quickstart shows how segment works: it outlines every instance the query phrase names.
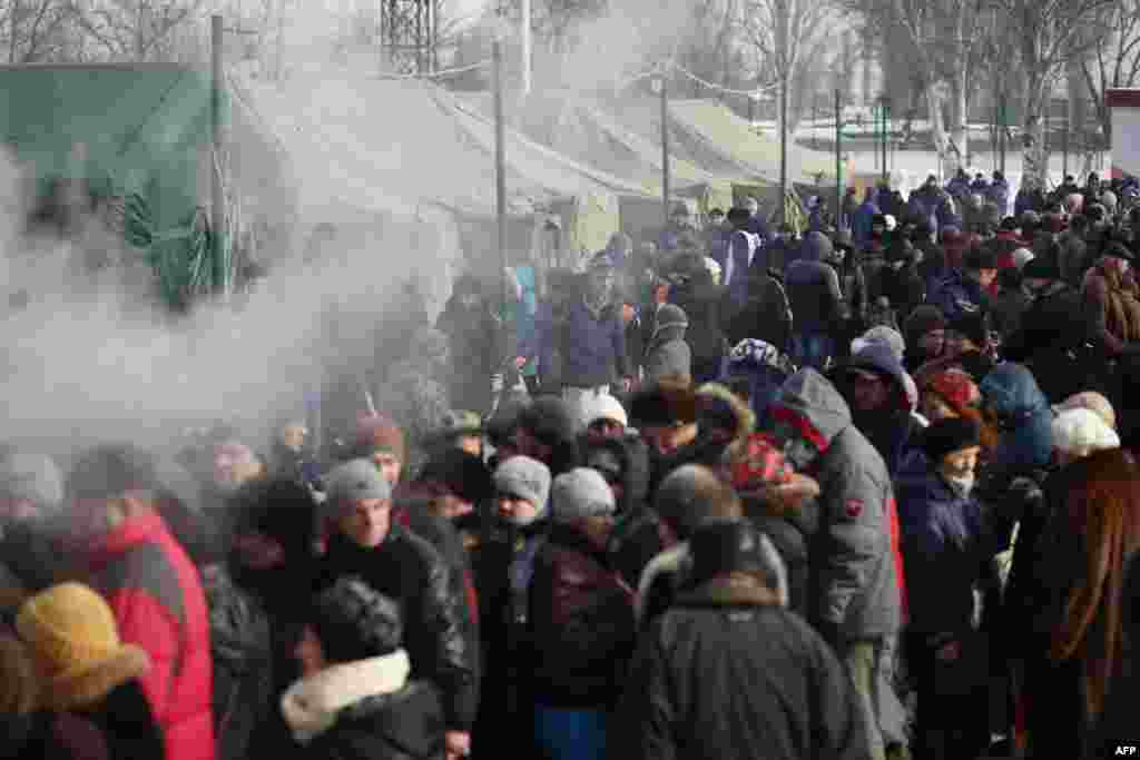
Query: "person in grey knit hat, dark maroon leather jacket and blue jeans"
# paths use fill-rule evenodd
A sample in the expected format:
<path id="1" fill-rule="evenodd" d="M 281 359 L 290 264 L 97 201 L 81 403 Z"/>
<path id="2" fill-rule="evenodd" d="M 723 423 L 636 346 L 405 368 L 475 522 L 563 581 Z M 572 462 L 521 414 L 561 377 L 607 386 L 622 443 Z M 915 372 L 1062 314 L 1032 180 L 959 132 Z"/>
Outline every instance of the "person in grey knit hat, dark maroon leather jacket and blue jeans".
<path id="1" fill-rule="evenodd" d="M 594 469 L 551 485 L 553 525 L 529 589 L 536 737 L 547 758 L 606 757 L 606 718 L 635 641 L 634 594 L 605 551 L 616 507 Z"/>

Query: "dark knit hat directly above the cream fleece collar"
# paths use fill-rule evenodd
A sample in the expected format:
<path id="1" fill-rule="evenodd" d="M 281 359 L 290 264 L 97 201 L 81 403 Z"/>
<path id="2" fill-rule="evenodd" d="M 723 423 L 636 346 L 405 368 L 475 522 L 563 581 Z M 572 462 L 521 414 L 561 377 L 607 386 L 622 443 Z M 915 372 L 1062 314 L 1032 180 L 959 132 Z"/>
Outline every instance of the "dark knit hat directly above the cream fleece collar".
<path id="1" fill-rule="evenodd" d="M 400 606 L 357 575 L 340 578 L 319 591 L 306 622 L 332 662 L 391 654 L 404 638 Z"/>

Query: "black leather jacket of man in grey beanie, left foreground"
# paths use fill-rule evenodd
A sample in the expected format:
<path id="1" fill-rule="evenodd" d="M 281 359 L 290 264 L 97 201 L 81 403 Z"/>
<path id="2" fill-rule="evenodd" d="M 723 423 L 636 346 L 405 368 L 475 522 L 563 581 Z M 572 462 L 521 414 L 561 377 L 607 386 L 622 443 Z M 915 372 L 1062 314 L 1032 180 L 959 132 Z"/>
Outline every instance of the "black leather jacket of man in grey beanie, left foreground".
<path id="1" fill-rule="evenodd" d="M 478 654 L 464 636 L 464 599 L 453 590 L 447 562 L 422 538 L 392 525 L 375 549 L 363 549 L 340 533 L 329 540 L 317 587 L 350 574 L 399 600 L 412 677 L 439 687 L 448 730 L 469 730 L 475 718 Z"/>

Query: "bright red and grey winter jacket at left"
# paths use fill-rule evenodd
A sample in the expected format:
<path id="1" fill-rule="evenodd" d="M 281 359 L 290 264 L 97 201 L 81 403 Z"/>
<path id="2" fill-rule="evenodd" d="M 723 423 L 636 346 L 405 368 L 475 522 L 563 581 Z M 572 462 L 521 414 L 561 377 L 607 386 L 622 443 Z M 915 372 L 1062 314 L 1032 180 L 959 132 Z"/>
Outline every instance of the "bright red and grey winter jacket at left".
<path id="1" fill-rule="evenodd" d="M 142 692 L 162 728 L 165 760 L 214 760 L 210 629 L 194 564 L 156 513 L 98 539 L 89 563 L 120 636 L 150 655 Z"/>

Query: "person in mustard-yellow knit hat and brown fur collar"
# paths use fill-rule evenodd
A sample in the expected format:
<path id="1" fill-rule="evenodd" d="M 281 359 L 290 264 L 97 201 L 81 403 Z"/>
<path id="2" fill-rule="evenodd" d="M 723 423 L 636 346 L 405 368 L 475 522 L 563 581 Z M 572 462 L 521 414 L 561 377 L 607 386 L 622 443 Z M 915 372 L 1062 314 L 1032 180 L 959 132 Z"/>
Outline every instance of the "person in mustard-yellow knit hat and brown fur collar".
<path id="1" fill-rule="evenodd" d="M 67 754 L 169 757 L 140 683 L 152 661 L 120 639 L 114 613 L 95 590 L 68 582 L 40 591 L 21 607 L 16 630 L 40 676 L 39 709 L 72 718 L 56 724 Z"/>

